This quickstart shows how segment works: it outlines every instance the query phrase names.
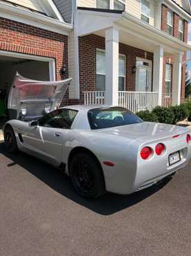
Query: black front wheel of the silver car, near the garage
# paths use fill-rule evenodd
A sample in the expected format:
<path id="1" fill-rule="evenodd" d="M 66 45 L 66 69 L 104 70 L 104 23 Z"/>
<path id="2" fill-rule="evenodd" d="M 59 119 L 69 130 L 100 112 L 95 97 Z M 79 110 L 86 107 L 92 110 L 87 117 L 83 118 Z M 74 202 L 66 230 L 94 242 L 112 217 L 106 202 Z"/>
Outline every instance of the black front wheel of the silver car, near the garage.
<path id="1" fill-rule="evenodd" d="M 19 152 L 17 147 L 17 140 L 14 131 L 11 127 L 6 127 L 4 130 L 4 140 L 8 153 L 17 154 Z"/>

